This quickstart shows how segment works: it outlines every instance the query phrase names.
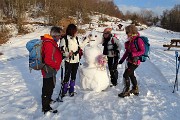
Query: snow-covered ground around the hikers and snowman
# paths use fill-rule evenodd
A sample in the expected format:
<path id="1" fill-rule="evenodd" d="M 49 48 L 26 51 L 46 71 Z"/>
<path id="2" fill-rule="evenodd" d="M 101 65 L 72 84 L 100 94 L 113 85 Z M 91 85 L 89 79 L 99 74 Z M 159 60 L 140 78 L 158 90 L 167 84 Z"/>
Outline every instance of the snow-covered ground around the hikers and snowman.
<path id="1" fill-rule="evenodd" d="M 103 28 L 98 28 L 102 30 Z M 117 33 L 120 41 L 126 40 L 124 31 Z M 0 119 L 1 120 L 179 120 L 180 91 L 172 93 L 176 62 L 174 50 L 164 51 L 164 43 L 180 38 L 180 33 L 169 32 L 158 27 L 140 31 L 149 38 L 150 60 L 136 70 L 139 96 L 118 98 L 123 89 L 122 74 L 125 63 L 118 67 L 119 79 L 116 87 L 101 93 L 82 89 L 77 74 L 74 97 L 65 97 L 64 102 L 55 103 L 58 114 L 41 112 L 42 77 L 40 71 L 28 68 L 27 41 L 49 33 L 48 27 L 39 27 L 35 32 L 10 39 L 0 46 Z M 121 52 L 121 55 L 123 51 Z M 60 90 L 60 71 L 57 75 L 53 99 Z"/>

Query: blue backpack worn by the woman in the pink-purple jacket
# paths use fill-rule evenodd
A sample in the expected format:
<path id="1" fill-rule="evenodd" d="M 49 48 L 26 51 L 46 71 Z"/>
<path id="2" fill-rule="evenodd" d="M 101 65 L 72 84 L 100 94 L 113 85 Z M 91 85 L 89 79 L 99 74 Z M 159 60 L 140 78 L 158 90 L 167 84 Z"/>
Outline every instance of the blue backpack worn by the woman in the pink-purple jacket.
<path id="1" fill-rule="evenodd" d="M 134 44 L 135 44 L 135 47 L 136 49 L 139 51 L 139 46 L 138 46 L 138 38 L 141 38 L 144 42 L 144 47 L 145 47 L 145 52 L 143 55 L 139 56 L 139 60 L 141 62 L 145 62 L 147 58 L 149 58 L 149 53 L 150 53 L 150 43 L 149 43 L 149 40 L 147 37 L 145 36 L 140 36 L 140 37 L 137 37 L 135 40 L 134 40 Z"/>

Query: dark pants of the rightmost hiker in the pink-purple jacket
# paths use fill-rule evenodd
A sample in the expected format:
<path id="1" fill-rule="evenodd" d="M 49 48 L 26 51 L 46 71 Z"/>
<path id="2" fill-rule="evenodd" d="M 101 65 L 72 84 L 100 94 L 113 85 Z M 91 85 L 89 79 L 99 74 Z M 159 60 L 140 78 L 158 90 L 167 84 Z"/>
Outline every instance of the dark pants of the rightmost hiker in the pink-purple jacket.
<path id="1" fill-rule="evenodd" d="M 130 80 L 133 86 L 137 85 L 137 80 L 136 80 L 136 77 L 134 76 L 134 71 L 137 67 L 138 65 L 134 65 L 130 62 L 127 63 L 127 68 L 123 74 L 126 87 L 130 87 Z"/>

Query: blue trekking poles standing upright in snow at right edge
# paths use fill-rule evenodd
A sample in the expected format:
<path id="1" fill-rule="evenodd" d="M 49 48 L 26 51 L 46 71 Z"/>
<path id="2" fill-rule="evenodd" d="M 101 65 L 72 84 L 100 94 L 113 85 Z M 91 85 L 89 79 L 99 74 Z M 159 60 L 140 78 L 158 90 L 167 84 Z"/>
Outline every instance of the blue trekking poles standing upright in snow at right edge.
<path id="1" fill-rule="evenodd" d="M 180 66 L 180 56 L 178 56 L 177 51 L 175 51 L 175 56 L 176 56 L 176 78 L 175 78 L 174 89 L 172 93 L 175 92 L 175 87 L 177 87 L 177 91 L 178 91 L 178 72 L 179 72 L 179 66 Z"/>

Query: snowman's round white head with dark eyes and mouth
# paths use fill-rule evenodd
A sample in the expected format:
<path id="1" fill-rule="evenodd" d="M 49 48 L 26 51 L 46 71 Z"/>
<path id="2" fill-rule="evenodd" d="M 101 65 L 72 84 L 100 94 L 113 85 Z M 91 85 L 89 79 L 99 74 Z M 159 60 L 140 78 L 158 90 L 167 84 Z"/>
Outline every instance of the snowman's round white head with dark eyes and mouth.
<path id="1" fill-rule="evenodd" d="M 91 33 L 89 34 L 89 39 L 89 45 L 92 47 L 102 43 L 102 35 L 101 33 L 98 33 L 96 31 L 91 31 Z"/>

